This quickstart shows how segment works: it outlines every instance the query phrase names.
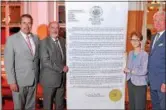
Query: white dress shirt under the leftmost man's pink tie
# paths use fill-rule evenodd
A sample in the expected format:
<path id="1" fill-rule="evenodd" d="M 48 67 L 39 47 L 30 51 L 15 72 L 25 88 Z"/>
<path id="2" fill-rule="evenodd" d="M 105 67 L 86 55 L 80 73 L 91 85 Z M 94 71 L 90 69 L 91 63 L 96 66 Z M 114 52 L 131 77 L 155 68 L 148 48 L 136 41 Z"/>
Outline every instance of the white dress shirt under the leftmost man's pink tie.
<path id="1" fill-rule="evenodd" d="M 28 41 L 27 41 L 27 35 L 25 33 L 23 33 L 22 31 L 20 31 L 20 32 L 21 32 L 22 36 L 24 37 L 25 41 L 28 43 Z M 32 35 L 28 34 L 28 36 L 29 36 L 29 40 L 30 40 L 30 43 L 31 43 L 31 46 L 32 46 L 33 55 L 35 55 L 35 49 L 36 49 L 35 43 L 33 41 Z"/>

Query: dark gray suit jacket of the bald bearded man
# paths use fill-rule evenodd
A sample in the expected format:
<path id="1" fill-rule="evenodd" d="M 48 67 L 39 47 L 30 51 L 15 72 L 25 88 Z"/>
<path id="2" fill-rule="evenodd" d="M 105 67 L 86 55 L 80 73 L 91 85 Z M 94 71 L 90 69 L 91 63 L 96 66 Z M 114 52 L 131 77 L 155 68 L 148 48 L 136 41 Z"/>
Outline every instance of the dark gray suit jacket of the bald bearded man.
<path id="1" fill-rule="evenodd" d="M 63 73 L 63 67 L 66 65 L 65 40 L 59 37 L 59 43 L 64 55 L 63 61 L 57 58 L 55 42 L 51 37 L 47 37 L 40 42 L 40 83 L 44 87 L 59 87 L 62 83 L 62 78 L 65 78 Z"/>

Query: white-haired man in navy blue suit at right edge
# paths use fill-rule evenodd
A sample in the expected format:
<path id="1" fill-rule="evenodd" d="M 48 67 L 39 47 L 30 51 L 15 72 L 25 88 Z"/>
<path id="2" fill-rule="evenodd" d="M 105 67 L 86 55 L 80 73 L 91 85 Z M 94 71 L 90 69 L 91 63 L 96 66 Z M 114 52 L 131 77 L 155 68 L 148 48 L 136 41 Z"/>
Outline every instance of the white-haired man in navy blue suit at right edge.
<path id="1" fill-rule="evenodd" d="M 157 34 L 152 38 L 148 63 L 148 78 L 151 89 L 152 108 L 166 109 L 166 19 L 165 12 L 159 11 L 153 16 Z"/>

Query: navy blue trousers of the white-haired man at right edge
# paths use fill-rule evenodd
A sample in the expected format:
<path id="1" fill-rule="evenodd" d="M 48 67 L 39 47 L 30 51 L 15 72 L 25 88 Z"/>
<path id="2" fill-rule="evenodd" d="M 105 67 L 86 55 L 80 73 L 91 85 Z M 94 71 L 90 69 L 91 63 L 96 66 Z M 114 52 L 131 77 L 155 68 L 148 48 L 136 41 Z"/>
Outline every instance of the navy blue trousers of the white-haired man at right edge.
<path id="1" fill-rule="evenodd" d="M 153 110 L 166 110 L 166 93 L 161 90 L 150 90 Z"/>

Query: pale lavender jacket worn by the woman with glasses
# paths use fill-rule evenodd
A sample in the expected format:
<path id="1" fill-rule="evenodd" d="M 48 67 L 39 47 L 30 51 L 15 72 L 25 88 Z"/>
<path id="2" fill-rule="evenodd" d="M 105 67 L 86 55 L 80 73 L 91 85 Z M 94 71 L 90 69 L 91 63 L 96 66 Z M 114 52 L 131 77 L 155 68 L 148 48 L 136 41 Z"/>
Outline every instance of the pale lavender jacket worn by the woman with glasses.
<path id="1" fill-rule="evenodd" d="M 127 73 L 127 80 L 131 79 L 131 82 L 136 86 L 147 85 L 148 54 L 141 50 L 134 60 L 133 55 L 134 52 L 130 51 L 127 68 L 135 73 Z"/>

